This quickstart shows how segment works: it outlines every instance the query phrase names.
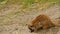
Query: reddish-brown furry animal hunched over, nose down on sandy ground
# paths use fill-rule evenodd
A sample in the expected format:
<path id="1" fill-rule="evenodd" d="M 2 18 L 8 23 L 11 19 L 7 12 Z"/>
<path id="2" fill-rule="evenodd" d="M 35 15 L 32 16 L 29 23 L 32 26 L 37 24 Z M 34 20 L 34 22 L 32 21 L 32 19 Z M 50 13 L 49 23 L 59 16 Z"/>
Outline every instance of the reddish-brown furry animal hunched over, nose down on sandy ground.
<path id="1" fill-rule="evenodd" d="M 36 32 L 39 28 L 47 29 L 49 27 L 55 26 L 50 20 L 49 16 L 45 14 L 38 15 L 27 25 L 31 32 Z"/>

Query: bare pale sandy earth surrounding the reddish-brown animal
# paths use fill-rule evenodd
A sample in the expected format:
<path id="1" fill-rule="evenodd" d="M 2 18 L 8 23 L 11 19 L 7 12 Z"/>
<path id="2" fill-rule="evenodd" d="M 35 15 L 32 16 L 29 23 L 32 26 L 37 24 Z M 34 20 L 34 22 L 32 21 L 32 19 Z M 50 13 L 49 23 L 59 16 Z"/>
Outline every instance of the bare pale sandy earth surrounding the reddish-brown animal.
<path id="1" fill-rule="evenodd" d="M 16 7 L 17 5 L 15 6 L 15 8 Z M 15 8 L 8 10 L 6 10 L 5 8 L 5 11 L 1 10 L 0 16 L 3 15 L 0 18 L 2 20 L 1 22 L 12 22 L 13 24 L 0 26 L 0 34 L 60 34 L 60 27 L 51 28 L 48 31 L 42 30 L 37 33 L 30 33 L 26 26 L 26 23 L 30 22 L 32 18 L 41 13 L 49 15 L 51 20 L 55 20 L 56 18 L 60 17 L 60 5 L 54 4 L 43 10 L 32 9 L 26 12 L 17 12 L 18 7 L 17 9 Z M 17 14 L 15 14 L 16 12 Z"/>

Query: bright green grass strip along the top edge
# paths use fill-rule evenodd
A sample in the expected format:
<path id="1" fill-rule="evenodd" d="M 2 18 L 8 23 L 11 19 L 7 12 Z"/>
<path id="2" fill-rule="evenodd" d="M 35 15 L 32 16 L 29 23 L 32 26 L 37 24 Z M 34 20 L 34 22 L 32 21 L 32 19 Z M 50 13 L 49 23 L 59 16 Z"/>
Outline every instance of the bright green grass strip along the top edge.
<path id="1" fill-rule="evenodd" d="M 25 6 L 23 8 L 28 8 L 34 2 L 51 4 L 51 3 L 60 3 L 60 0 L 20 0 L 19 2 L 24 2 Z"/>

